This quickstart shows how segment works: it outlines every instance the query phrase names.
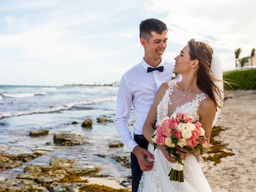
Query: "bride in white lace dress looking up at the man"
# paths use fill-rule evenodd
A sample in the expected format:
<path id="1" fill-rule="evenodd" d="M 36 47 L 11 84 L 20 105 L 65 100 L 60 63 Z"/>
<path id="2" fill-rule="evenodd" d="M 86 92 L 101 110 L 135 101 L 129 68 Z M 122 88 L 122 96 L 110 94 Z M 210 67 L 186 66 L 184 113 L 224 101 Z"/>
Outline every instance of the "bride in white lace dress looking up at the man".
<path id="1" fill-rule="evenodd" d="M 216 84 L 222 84 L 222 81 L 217 80 L 211 71 L 214 67 L 211 66 L 212 54 L 213 50 L 208 44 L 192 39 L 174 58 L 174 71 L 181 74 L 183 79 L 181 82 L 163 83 L 148 112 L 142 132 L 150 143 L 148 151 L 154 154 L 154 166 L 152 170 L 143 172 L 138 192 L 212 191 L 199 164 L 202 158 L 198 150 L 194 149 L 194 153 L 198 155 L 195 157 L 177 147 L 177 153 L 184 160 L 184 182 L 170 181 L 168 173 L 172 168 L 171 163 L 176 160 L 168 154 L 164 146 L 158 146 L 154 150 L 151 139 L 154 124 L 159 124 L 166 116 L 182 112 L 202 124 L 208 141 L 203 145 L 206 148 L 204 153 L 208 151 L 216 111 L 223 104 L 223 88 Z"/>

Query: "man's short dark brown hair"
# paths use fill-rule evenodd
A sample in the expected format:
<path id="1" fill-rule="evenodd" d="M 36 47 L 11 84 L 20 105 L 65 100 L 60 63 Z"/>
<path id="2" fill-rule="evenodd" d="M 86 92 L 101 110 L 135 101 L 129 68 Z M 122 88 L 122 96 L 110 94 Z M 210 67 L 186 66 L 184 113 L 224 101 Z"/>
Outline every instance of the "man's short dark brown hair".
<path id="1" fill-rule="evenodd" d="M 168 30 L 166 24 L 158 19 L 151 18 L 140 22 L 140 38 L 144 38 L 148 42 L 152 37 L 151 32 L 153 31 L 162 34 L 162 32 Z"/>

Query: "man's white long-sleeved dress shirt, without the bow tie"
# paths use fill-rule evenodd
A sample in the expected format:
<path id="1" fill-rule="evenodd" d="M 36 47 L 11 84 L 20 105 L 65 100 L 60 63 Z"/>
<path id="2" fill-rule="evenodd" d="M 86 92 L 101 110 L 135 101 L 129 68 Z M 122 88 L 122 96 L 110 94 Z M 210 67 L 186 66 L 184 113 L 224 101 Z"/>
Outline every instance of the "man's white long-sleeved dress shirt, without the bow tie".
<path id="1" fill-rule="evenodd" d="M 171 80 L 174 64 L 162 59 L 157 67 L 159 66 L 164 66 L 163 72 L 154 70 L 148 73 L 147 69 L 151 66 L 142 59 L 142 62 L 124 73 L 120 80 L 114 125 L 122 142 L 131 152 L 138 145 L 132 138 L 127 124 L 131 108 L 133 107 L 133 112 L 136 115 L 133 132 L 142 134 L 142 126 L 159 87 L 162 83 Z M 180 76 L 177 76 L 176 80 L 179 81 L 179 79 Z"/>

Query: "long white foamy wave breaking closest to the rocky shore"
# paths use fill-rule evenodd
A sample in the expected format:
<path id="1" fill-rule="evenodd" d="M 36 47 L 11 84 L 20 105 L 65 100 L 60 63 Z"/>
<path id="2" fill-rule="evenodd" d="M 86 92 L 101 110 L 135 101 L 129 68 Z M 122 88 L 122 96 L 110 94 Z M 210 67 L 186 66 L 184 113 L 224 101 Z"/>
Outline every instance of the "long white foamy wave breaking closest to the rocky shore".
<path id="1" fill-rule="evenodd" d="M 68 110 L 76 105 L 92 104 L 92 103 L 96 103 L 96 102 L 114 101 L 114 100 L 116 100 L 116 96 L 96 98 L 96 99 L 90 99 L 90 100 L 79 101 L 79 102 L 70 102 L 70 103 L 62 104 L 60 106 L 54 106 L 51 108 L 44 108 L 44 109 L 37 109 L 37 110 L 33 110 L 33 111 L 20 111 L 20 112 L 11 112 L 11 113 L 7 112 L 7 113 L 0 114 L 0 118 L 10 117 L 10 116 L 38 114 L 38 113 L 57 112 L 57 111 L 61 111 L 61 110 Z"/>

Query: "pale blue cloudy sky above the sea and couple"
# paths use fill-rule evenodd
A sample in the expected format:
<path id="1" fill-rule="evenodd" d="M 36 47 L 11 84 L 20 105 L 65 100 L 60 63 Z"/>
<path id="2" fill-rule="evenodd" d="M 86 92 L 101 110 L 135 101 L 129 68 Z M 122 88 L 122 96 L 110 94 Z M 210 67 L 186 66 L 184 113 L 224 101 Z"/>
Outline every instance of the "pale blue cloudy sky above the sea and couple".
<path id="1" fill-rule="evenodd" d="M 141 62 L 141 20 L 168 27 L 163 58 L 195 38 L 223 70 L 256 47 L 254 0 L 0 0 L 0 84 L 111 84 Z"/>

